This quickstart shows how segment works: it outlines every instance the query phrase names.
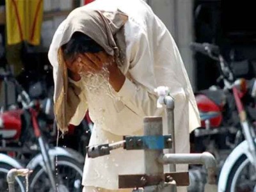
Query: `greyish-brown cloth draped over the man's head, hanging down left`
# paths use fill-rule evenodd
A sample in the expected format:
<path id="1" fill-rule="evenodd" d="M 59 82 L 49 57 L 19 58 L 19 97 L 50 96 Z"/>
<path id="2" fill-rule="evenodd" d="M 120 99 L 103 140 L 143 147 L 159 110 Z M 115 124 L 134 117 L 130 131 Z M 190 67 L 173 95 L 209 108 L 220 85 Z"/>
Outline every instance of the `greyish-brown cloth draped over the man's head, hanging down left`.
<path id="1" fill-rule="evenodd" d="M 92 38 L 104 51 L 114 56 L 116 64 L 121 67 L 125 61 L 124 24 L 127 19 L 128 16 L 120 10 L 103 12 L 82 6 L 73 10 L 64 21 L 62 37 L 58 52 L 56 52 L 58 66 L 54 89 L 54 114 L 61 132 L 68 131 L 68 123 L 76 112 L 80 102 L 78 95 L 81 92 L 81 88 L 68 84 L 67 67 L 61 46 L 67 44 L 71 36 L 79 31 Z"/>

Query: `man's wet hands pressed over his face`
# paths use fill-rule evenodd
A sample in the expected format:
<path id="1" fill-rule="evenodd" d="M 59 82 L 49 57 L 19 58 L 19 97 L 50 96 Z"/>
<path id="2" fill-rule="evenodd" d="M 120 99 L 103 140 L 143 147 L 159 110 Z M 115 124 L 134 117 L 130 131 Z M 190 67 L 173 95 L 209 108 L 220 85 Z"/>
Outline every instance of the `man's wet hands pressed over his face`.
<path id="1" fill-rule="evenodd" d="M 111 63 L 106 52 L 77 54 L 73 60 L 67 60 L 67 68 L 74 74 L 97 74 L 104 65 Z"/>

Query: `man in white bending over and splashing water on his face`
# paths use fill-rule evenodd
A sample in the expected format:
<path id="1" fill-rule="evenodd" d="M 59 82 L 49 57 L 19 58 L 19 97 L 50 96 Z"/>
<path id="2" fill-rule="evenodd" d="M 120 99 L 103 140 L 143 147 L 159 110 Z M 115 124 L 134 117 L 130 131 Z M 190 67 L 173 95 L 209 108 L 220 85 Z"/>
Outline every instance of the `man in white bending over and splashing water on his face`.
<path id="1" fill-rule="evenodd" d="M 88 47 L 74 46 L 77 38 Z M 168 86 L 175 98 L 175 150 L 189 152 L 189 131 L 200 124 L 195 97 L 172 36 L 144 1 L 97 0 L 77 8 L 57 29 L 49 60 L 61 131 L 79 124 L 88 108 L 94 122 L 90 145 L 143 134 L 144 116 L 163 116 L 166 134 L 154 88 Z M 86 158 L 84 191 L 118 190 L 118 175 L 140 173 L 141 151 Z"/>

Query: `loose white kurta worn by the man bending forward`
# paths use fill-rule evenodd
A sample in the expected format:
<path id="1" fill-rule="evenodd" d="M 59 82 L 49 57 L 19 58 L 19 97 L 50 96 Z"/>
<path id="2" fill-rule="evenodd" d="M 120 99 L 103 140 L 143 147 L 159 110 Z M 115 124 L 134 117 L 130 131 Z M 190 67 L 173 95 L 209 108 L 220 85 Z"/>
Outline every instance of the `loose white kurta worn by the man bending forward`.
<path id="1" fill-rule="evenodd" d="M 195 97 L 179 51 L 168 29 L 142 0 L 97 0 L 86 6 L 94 10 L 121 10 L 129 16 L 125 23 L 126 62 L 122 72 L 130 78 L 115 98 L 106 93 L 96 95 L 86 91 L 83 79 L 76 84 L 84 90 L 71 124 L 79 124 L 89 108 L 93 127 L 90 145 L 122 140 L 124 135 L 143 133 L 144 116 L 163 116 L 164 134 L 167 133 L 164 109 L 157 109 L 154 88 L 168 86 L 175 98 L 176 152 L 189 152 L 189 131 L 200 125 Z M 65 23 L 65 20 L 63 21 Z M 60 47 L 63 23 L 57 29 L 49 50 L 49 60 L 58 68 L 57 50 Z M 56 81 L 56 79 L 54 79 Z M 187 166 L 177 166 L 186 170 Z M 109 156 L 86 158 L 84 186 L 118 189 L 118 175 L 144 173 L 143 151 L 113 150 Z"/>

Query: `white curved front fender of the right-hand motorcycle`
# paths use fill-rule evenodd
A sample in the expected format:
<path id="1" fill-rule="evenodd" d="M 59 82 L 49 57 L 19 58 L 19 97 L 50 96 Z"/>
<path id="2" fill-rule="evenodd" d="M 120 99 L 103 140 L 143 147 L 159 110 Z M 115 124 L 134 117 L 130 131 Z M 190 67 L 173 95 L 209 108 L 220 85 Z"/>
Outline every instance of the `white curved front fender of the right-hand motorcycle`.
<path id="1" fill-rule="evenodd" d="M 256 142 L 256 140 L 255 140 Z M 242 155 L 246 155 L 248 159 L 251 158 L 251 154 L 249 151 L 247 141 L 243 141 L 239 145 L 237 145 L 234 150 L 232 150 L 231 154 L 227 157 L 223 167 L 221 168 L 220 177 L 218 180 L 218 191 L 225 192 L 225 188 L 227 185 L 228 175 L 230 174 L 234 164 L 236 163 L 237 159 Z"/>

